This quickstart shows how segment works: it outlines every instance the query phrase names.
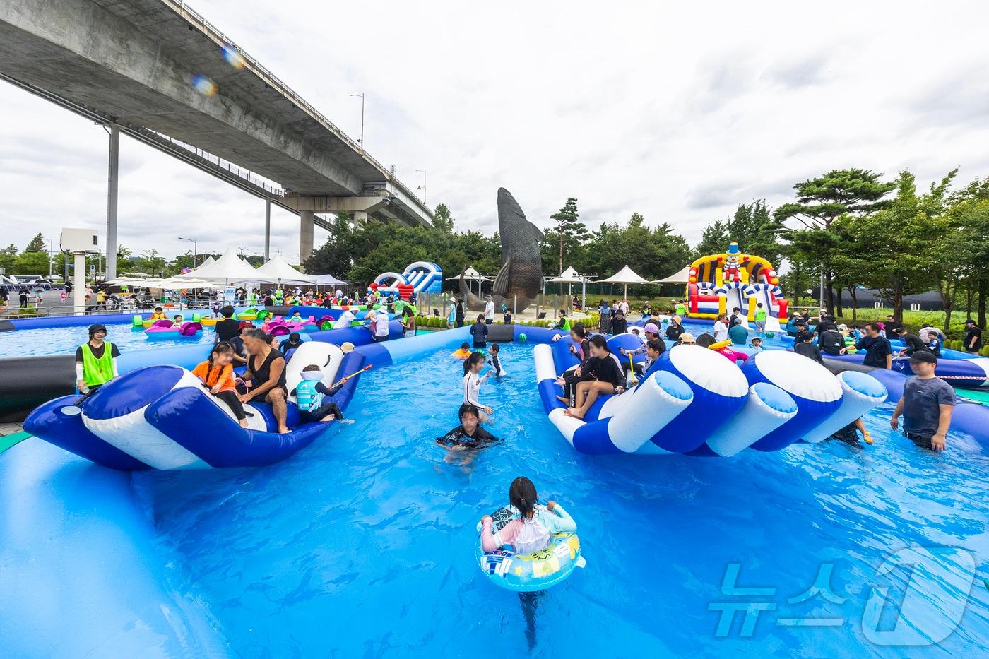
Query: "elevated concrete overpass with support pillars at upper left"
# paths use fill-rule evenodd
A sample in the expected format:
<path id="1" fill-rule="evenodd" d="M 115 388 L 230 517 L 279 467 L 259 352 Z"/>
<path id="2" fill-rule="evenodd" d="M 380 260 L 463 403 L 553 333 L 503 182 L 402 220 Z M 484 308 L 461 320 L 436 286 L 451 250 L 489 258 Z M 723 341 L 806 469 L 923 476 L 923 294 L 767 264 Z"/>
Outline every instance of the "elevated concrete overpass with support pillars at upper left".
<path id="1" fill-rule="evenodd" d="M 110 128 L 111 197 L 123 132 L 298 213 L 302 260 L 325 225 L 317 213 L 432 220 L 360 143 L 178 0 L 4 0 L 0 78 Z"/>

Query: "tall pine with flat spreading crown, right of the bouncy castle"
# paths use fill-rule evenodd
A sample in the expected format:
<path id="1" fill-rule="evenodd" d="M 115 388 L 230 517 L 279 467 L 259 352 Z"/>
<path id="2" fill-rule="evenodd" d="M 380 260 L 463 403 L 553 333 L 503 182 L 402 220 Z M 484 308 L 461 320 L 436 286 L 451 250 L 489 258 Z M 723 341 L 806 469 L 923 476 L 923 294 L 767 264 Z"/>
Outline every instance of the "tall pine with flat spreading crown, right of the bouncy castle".
<path id="1" fill-rule="evenodd" d="M 795 220 L 802 229 L 789 229 L 783 232 L 783 237 L 791 242 L 802 242 L 806 247 L 816 245 L 817 259 L 822 265 L 825 279 L 825 298 L 828 312 L 835 313 L 834 304 L 834 266 L 831 265 L 832 252 L 838 244 L 834 235 L 801 235 L 808 232 L 831 231 L 831 225 L 842 216 L 852 218 L 874 213 L 889 205 L 883 199 L 896 189 L 895 182 L 884 183 L 879 180 L 881 173 L 868 169 L 833 169 L 824 176 L 812 178 L 793 186 L 797 192 L 795 203 L 783 204 L 775 210 L 774 218 L 782 225 L 789 220 Z"/>

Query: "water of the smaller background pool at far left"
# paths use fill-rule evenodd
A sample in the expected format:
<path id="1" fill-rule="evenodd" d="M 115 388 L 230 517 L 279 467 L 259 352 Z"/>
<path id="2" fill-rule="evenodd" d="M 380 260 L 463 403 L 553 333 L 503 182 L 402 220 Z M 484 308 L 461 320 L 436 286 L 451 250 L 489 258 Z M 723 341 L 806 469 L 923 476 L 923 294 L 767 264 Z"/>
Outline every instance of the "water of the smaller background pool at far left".
<path id="1" fill-rule="evenodd" d="M 25 357 L 38 354 L 73 354 L 75 349 L 86 342 L 89 334 L 86 327 L 15 329 L 0 332 L 0 358 Z M 149 339 L 144 329 L 131 325 L 108 325 L 107 340 L 115 343 L 121 352 L 144 348 L 173 347 L 191 343 L 212 343 L 213 328 L 203 328 L 195 336 L 188 338 Z"/>

